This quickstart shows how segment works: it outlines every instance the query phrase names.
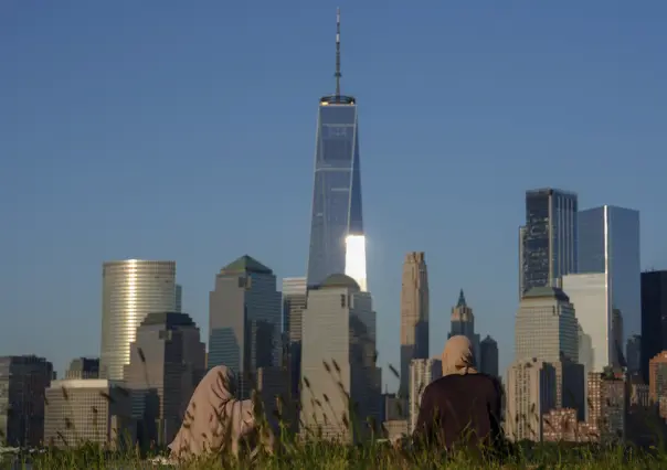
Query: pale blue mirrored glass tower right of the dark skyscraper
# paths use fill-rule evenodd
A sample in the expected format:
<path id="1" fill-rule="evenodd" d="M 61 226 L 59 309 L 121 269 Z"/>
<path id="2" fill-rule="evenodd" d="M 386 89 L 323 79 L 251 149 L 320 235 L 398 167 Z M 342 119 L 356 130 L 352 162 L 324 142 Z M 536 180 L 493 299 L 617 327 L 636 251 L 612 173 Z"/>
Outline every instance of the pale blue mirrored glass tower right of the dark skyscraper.
<path id="1" fill-rule="evenodd" d="M 625 366 L 627 341 L 642 334 L 639 212 L 612 205 L 581 211 L 578 273 L 604 275 L 605 305 L 614 323 L 610 331 L 614 338 L 613 357 Z M 576 305 L 574 308 L 579 311 Z"/>

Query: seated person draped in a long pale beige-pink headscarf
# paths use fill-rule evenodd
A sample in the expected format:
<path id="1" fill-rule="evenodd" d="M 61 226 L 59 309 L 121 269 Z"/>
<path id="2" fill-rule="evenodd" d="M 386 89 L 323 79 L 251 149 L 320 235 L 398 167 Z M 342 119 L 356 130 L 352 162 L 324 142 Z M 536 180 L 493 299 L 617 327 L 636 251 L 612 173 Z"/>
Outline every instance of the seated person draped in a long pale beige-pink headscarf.
<path id="1" fill-rule="evenodd" d="M 224 366 L 211 368 L 199 383 L 183 417 L 183 424 L 169 445 L 174 458 L 198 457 L 208 451 L 232 446 L 239 452 L 239 441 L 255 428 L 252 400 L 239 400 L 234 374 Z"/>

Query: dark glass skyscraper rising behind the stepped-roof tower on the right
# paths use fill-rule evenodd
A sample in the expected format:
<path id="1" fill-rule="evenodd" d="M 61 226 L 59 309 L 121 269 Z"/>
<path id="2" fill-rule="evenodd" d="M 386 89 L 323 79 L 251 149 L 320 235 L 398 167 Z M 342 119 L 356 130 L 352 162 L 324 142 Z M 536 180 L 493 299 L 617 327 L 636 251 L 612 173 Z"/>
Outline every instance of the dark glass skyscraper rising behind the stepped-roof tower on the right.
<path id="1" fill-rule="evenodd" d="M 526 192 L 526 225 L 519 255 L 519 286 L 560 287 L 560 278 L 578 270 L 578 197 L 557 189 Z"/>

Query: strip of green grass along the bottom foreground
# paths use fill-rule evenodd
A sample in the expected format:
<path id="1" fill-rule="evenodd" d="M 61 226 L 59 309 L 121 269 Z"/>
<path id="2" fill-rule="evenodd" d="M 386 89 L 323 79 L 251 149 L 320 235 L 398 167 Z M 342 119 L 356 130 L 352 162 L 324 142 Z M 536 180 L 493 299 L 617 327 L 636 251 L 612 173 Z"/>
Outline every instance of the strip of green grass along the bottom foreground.
<path id="1" fill-rule="evenodd" d="M 274 456 L 260 455 L 252 461 L 248 456 L 235 459 L 216 455 L 208 460 L 182 464 L 190 469 L 665 469 L 667 452 L 658 449 L 637 450 L 622 447 L 572 447 L 536 445 L 517 449 L 502 461 L 472 458 L 465 455 L 445 456 L 437 449 L 396 449 L 384 444 L 340 446 L 331 444 L 304 444 L 280 446 Z M 7 458 L 0 469 L 149 469 L 173 468 L 151 463 L 133 453 L 105 452 L 94 446 L 78 449 L 46 451 L 30 458 Z"/>

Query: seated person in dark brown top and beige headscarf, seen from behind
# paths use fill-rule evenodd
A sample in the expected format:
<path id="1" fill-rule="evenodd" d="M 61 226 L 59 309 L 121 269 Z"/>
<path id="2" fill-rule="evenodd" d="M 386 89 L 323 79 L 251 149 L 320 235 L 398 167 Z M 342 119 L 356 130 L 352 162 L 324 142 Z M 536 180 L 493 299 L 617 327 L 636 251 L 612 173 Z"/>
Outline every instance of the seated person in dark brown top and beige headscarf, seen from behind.
<path id="1" fill-rule="evenodd" d="M 480 374 L 466 337 L 452 337 L 443 352 L 443 377 L 422 395 L 415 438 L 436 439 L 447 449 L 457 444 L 495 446 L 500 438 L 501 388 Z"/>

